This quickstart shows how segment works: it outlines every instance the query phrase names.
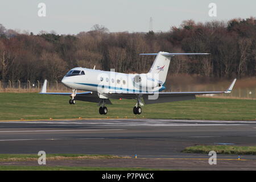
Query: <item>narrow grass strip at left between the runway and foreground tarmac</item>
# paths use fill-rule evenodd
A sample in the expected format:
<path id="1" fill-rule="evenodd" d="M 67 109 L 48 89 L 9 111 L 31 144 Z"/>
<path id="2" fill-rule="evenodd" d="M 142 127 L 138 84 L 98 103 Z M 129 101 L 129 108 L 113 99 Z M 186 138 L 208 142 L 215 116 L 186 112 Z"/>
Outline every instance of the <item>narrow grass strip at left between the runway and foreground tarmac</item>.
<path id="1" fill-rule="evenodd" d="M 80 159 L 128 159 L 128 156 L 116 155 L 84 155 L 84 154 L 47 154 L 47 160 L 80 160 Z M 18 162 L 38 160 L 38 155 L 33 154 L 0 154 L 0 162 Z"/>

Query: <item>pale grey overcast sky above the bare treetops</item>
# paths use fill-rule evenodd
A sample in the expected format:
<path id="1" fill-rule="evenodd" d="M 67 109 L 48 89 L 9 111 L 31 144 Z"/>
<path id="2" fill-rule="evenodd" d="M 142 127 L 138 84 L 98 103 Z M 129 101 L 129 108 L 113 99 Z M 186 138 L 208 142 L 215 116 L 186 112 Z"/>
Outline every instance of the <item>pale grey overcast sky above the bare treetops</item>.
<path id="1" fill-rule="evenodd" d="M 46 17 L 38 16 L 38 4 L 46 4 Z M 209 3 L 216 3 L 217 17 L 210 17 Z M 256 16 L 256 1 L 230 0 L 2 0 L 0 24 L 6 28 L 39 31 L 56 31 L 58 34 L 77 34 L 102 24 L 110 32 L 147 32 L 150 17 L 154 31 L 168 31 L 183 20 L 196 22 L 229 20 Z"/>

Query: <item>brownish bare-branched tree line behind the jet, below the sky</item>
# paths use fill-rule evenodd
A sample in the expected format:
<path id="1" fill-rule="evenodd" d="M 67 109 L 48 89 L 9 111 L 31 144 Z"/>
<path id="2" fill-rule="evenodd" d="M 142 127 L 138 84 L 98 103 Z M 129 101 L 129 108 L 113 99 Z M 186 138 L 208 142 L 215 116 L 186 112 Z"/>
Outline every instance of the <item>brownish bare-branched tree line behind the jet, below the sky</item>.
<path id="1" fill-rule="evenodd" d="M 204 77 L 250 77 L 256 71 L 256 20 L 195 23 L 185 20 L 168 32 L 109 32 L 95 25 L 77 35 L 19 33 L 0 24 L 0 80 L 60 80 L 74 67 L 148 72 L 154 56 L 139 53 L 208 52 L 174 56 L 169 72 Z"/>

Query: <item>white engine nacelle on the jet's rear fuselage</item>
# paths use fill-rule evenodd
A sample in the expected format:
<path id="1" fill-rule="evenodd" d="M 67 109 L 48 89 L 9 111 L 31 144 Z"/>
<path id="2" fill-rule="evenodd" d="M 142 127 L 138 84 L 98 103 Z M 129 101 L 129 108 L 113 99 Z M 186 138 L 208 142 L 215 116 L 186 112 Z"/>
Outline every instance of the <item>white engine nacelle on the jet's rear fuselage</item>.
<path id="1" fill-rule="evenodd" d="M 143 87 L 143 88 L 155 88 L 159 86 L 159 82 L 154 80 L 153 78 L 149 78 L 146 75 L 136 75 L 134 77 L 135 84 Z"/>

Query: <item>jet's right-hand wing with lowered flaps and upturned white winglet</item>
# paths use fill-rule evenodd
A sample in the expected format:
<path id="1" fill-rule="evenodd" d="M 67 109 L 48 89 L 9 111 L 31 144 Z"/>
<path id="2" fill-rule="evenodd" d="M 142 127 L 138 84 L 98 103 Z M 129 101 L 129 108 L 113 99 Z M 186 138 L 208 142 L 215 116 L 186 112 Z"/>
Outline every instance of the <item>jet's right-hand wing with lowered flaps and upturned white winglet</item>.
<path id="1" fill-rule="evenodd" d="M 185 101 L 196 99 L 196 95 L 202 94 L 221 94 L 221 93 L 231 93 L 236 79 L 233 80 L 229 88 L 225 91 L 218 92 L 133 92 L 133 93 L 108 93 L 106 96 L 108 98 L 143 98 L 145 104 L 156 104 L 163 102 L 174 102 L 174 101 Z"/>

